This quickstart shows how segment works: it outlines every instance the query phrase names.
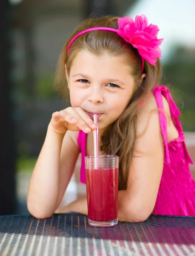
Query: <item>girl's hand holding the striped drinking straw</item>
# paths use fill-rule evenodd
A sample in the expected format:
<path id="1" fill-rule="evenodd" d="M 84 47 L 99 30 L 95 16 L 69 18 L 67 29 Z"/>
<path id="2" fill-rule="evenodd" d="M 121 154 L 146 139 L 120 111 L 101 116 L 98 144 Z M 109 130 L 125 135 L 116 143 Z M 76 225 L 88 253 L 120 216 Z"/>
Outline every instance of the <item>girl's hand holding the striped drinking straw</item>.
<path id="1" fill-rule="evenodd" d="M 54 112 L 50 124 L 57 134 L 65 134 L 67 130 L 82 130 L 87 134 L 96 128 L 92 119 L 80 107 Z"/>

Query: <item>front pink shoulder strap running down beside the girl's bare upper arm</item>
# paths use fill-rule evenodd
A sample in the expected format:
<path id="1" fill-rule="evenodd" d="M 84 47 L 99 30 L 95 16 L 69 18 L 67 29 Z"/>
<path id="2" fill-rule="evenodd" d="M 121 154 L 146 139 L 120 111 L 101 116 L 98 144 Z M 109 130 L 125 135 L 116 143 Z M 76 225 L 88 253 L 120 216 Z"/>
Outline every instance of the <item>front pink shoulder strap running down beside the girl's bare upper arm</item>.
<path id="1" fill-rule="evenodd" d="M 158 106 L 161 132 L 162 132 L 163 141 L 164 141 L 164 148 L 165 148 L 164 159 L 165 159 L 166 163 L 170 164 L 166 114 L 164 113 L 163 98 L 162 98 L 162 93 L 161 93 L 161 87 L 160 86 L 157 86 L 155 88 L 154 96 L 155 96 L 156 103 L 157 103 L 157 106 Z"/>

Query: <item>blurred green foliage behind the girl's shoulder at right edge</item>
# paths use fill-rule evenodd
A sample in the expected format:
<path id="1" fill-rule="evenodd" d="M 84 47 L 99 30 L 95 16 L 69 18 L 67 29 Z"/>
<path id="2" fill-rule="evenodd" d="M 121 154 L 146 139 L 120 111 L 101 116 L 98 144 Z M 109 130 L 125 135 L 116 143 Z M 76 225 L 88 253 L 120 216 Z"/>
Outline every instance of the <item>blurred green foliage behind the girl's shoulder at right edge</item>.
<path id="1" fill-rule="evenodd" d="M 184 131 L 195 131 L 195 49 L 178 46 L 163 65 L 164 81 L 181 111 Z"/>

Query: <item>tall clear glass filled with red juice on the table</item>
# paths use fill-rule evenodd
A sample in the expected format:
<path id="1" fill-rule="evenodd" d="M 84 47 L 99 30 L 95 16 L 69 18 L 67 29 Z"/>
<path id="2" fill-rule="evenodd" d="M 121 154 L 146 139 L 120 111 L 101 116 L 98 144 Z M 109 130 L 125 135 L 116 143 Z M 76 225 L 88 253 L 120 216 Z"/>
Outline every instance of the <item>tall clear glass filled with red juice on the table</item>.
<path id="1" fill-rule="evenodd" d="M 85 157 L 88 221 L 92 227 L 118 223 L 118 165 L 115 155 Z"/>

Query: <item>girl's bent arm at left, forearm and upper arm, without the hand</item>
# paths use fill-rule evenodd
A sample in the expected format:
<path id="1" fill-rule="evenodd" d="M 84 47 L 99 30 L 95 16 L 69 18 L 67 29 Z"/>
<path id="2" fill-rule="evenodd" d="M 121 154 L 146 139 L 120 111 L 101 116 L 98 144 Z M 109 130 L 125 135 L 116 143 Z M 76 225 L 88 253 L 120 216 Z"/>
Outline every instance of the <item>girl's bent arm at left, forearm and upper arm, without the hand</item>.
<path id="1" fill-rule="evenodd" d="M 72 133 L 57 134 L 49 125 L 29 184 L 27 206 L 36 218 L 51 216 L 60 204 L 79 154 Z M 62 149 L 62 154 L 61 153 Z"/>

